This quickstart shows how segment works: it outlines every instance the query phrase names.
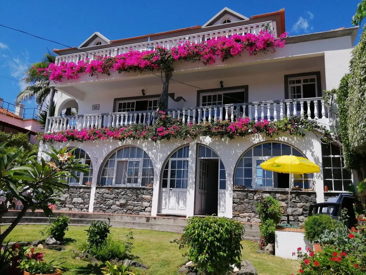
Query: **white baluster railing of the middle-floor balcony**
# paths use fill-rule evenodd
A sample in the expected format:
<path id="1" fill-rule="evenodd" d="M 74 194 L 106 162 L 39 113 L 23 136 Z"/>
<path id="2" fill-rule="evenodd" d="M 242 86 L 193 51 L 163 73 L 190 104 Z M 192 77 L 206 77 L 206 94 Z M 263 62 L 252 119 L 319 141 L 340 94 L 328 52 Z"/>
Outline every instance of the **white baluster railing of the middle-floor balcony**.
<path id="1" fill-rule="evenodd" d="M 183 123 L 202 123 L 205 121 L 237 121 L 249 117 L 251 120 L 279 120 L 286 115 L 301 116 L 307 119 L 328 118 L 328 108 L 323 98 L 287 99 L 265 102 L 235 103 L 215 106 L 168 109 L 173 118 L 181 118 Z M 135 111 L 107 114 L 70 115 L 49 117 L 49 127 L 45 132 L 58 132 L 70 129 L 122 127 L 131 124 L 152 125 L 155 123 L 154 111 Z"/>

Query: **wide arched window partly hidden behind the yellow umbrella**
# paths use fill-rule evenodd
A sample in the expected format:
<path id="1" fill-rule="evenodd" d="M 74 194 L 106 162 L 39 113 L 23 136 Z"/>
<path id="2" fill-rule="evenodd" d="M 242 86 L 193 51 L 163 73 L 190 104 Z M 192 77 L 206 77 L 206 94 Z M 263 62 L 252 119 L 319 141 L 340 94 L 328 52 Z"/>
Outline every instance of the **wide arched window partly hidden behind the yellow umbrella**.
<path id="1" fill-rule="evenodd" d="M 250 148 L 235 167 L 234 185 L 253 189 L 289 188 L 289 174 L 263 170 L 260 164 L 267 159 L 281 155 L 305 157 L 298 150 L 287 144 L 268 142 Z M 313 174 L 294 174 L 294 186 L 311 188 Z"/>

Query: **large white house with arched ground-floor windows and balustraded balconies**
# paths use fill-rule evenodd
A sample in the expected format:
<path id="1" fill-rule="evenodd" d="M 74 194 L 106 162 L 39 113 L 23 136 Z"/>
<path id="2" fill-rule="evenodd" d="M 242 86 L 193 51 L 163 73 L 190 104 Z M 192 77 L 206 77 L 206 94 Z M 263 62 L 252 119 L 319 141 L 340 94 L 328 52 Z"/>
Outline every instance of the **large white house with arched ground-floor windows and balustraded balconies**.
<path id="1" fill-rule="evenodd" d="M 247 18 L 224 8 L 202 27 L 120 40 L 108 40 L 96 32 L 78 48 L 54 51 L 59 54 L 56 63 L 76 62 L 93 55 L 115 56 L 156 45 L 171 48 L 182 40 L 200 42 L 234 33 L 258 34 L 264 27 L 275 36 L 285 32 L 284 10 Z M 305 111 L 309 118 L 332 128 L 323 90 L 338 87 L 348 72 L 357 30 L 352 27 L 292 36 L 274 54 L 244 53 L 207 66 L 175 62 L 172 78 L 189 85 L 170 82 L 168 114 L 198 123 L 209 118 L 236 120 L 243 116 L 280 119 L 284 114 L 300 115 Z M 98 78 L 83 74 L 77 80 L 55 83 L 55 88 L 59 92 L 56 117 L 49 118 L 50 132 L 152 124 L 162 84 L 160 77 L 148 72 L 113 72 Z M 67 108 L 78 109 L 78 115 L 60 117 Z M 320 173 L 295 175 L 295 186 L 311 188 L 315 182 L 314 191 L 292 191 L 291 221 L 299 224 L 311 203 L 347 191 L 352 183 L 351 173 L 343 168 L 340 148 L 322 144 L 320 136 L 310 131 L 305 137 L 253 134 L 232 140 L 200 136 L 196 140 L 156 143 L 109 139 L 53 143 L 77 147 L 78 156 L 90 164 L 90 173 L 78 175 L 77 181 L 70 180 L 72 187 L 61 197 L 60 208 L 152 216 L 217 214 L 258 222 L 254 203 L 271 194 L 285 208 L 289 180 L 288 175 L 263 171 L 259 164 L 272 156 L 294 154 L 321 166 Z M 47 146 L 44 143 L 40 150 Z M 89 182 L 91 186 L 87 186 Z M 324 185 L 329 192 L 324 192 Z"/>

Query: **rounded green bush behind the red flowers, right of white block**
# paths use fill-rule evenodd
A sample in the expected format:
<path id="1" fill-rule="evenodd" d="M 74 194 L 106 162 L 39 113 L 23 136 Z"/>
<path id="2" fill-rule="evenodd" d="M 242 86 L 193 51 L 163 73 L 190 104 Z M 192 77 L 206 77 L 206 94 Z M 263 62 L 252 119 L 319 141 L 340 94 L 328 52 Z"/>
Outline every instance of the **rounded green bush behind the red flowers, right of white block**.
<path id="1" fill-rule="evenodd" d="M 326 229 L 333 228 L 332 218 L 328 215 L 313 215 L 308 217 L 304 223 L 305 237 L 310 242 L 319 241 L 321 234 Z"/>

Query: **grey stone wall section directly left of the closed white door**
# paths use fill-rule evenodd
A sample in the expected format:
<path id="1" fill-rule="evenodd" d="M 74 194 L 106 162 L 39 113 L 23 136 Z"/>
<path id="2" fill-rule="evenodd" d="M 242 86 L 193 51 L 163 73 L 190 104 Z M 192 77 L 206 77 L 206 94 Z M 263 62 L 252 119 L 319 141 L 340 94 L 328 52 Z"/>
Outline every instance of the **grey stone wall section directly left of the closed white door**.
<path id="1" fill-rule="evenodd" d="M 152 187 L 97 187 L 93 212 L 150 215 Z"/>

